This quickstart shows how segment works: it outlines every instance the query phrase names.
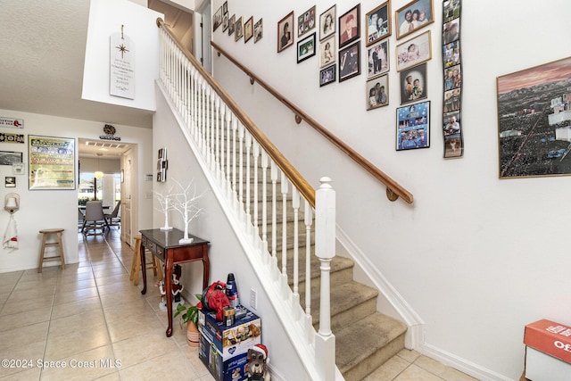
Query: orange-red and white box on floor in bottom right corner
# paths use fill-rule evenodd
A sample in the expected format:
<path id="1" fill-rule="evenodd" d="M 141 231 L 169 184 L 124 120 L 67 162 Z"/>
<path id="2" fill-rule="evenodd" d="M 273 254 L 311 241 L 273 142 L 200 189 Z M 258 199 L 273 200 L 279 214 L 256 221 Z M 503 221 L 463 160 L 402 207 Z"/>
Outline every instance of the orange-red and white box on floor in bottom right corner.
<path id="1" fill-rule="evenodd" d="M 571 380 L 571 327 L 542 319 L 525 326 L 525 377 Z"/>

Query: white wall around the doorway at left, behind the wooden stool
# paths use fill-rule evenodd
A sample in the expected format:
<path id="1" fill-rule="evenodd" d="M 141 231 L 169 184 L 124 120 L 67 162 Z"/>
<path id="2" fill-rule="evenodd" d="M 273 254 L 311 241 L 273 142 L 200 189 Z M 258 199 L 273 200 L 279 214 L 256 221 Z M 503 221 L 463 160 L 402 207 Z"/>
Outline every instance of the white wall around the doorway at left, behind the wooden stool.
<path id="1" fill-rule="evenodd" d="M 0 143 L 1 151 L 17 151 L 23 153 L 23 161 L 28 163 L 28 135 L 49 137 L 87 137 L 97 139 L 103 131 L 103 122 L 59 118 L 29 112 L 0 110 L 2 115 L 24 120 L 24 129 L 1 128 L 3 132 L 25 135 L 26 143 Z M 151 228 L 152 200 L 145 198 L 145 173 L 153 173 L 152 158 L 149 154 L 152 148 L 152 130 L 132 126 L 115 125 L 117 136 L 125 143 L 137 144 L 139 159 L 138 186 L 139 193 L 137 208 L 139 228 Z M 76 153 L 77 159 L 77 153 Z M 76 167 L 77 170 L 77 167 Z M 12 175 L 12 167 L 0 166 L 0 178 Z M 150 189 L 149 189 L 150 190 Z M 21 196 L 20 211 L 14 214 L 18 224 L 19 250 L 10 251 L 0 247 L 0 272 L 21 269 L 36 269 L 41 244 L 38 230 L 43 228 L 64 228 L 63 251 L 67 263 L 78 262 L 78 191 L 75 190 L 28 190 L 28 168 L 26 174 L 16 176 L 15 188 L 4 188 L 0 198 L 8 192 L 16 192 Z M 0 228 L 8 223 L 8 213 L 0 211 Z M 4 236 L 4 235 L 3 235 Z M 46 266 L 57 262 L 46 263 Z"/>

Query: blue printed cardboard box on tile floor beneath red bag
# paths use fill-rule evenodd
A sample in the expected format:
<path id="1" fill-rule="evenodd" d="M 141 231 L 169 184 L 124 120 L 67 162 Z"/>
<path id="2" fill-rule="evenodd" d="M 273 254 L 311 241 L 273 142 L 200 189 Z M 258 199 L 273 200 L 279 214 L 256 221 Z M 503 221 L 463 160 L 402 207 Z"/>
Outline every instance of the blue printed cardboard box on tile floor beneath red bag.
<path id="1" fill-rule="evenodd" d="M 245 310 L 245 308 L 244 308 Z M 200 350 L 198 357 L 218 381 L 247 379 L 248 350 L 261 344 L 261 319 L 246 310 L 244 318 L 226 327 L 215 312 L 198 312 Z"/>

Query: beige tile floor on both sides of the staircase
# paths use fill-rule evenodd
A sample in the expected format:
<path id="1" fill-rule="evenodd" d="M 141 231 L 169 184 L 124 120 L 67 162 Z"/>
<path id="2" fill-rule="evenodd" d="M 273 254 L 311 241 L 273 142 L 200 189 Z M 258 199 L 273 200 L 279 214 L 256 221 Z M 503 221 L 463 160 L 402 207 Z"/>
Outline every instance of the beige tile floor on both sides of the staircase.
<path id="1" fill-rule="evenodd" d="M 12 360 L 0 379 L 213 380 L 186 330 L 164 334 L 152 272 L 145 296 L 129 281 L 133 250 L 118 231 L 79 237 L 79 264 L 0 274 L 0 360 Z M 403 350 L 366 380 L 474 378 Z"/>

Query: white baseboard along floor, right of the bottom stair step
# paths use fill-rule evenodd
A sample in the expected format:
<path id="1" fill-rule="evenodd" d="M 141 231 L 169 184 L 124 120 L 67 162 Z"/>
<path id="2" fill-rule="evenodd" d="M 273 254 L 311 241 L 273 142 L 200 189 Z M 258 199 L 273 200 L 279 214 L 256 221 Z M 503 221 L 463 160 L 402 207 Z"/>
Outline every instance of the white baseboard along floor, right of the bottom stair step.
<path id="1" fill-rule="evenodd" d="M 422 344 L 417 348 L 417 352 L 424 354 L 431 359 L 442 362 L 453 369 L 458 369 L 461 372 L 466 373 L 468 376 L 475 377 L 481 381 L 513 381 L 511 378 L 503 376 L 497 372 L 490 369 L 485 369 L 471 361 L 462 359 L 455 354 L 443 351 L 442 349 L 436 348 L 431 344 Z"/>

